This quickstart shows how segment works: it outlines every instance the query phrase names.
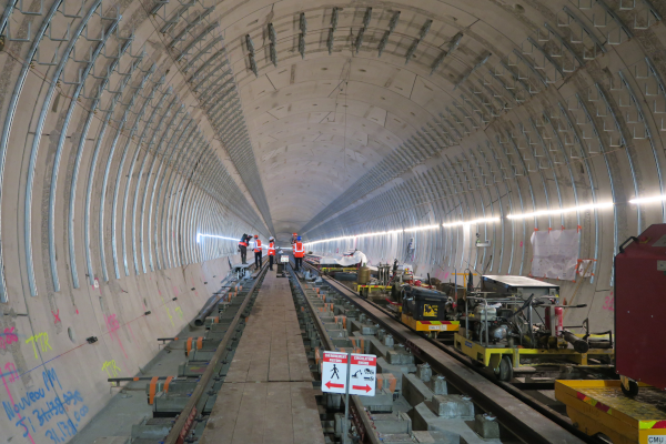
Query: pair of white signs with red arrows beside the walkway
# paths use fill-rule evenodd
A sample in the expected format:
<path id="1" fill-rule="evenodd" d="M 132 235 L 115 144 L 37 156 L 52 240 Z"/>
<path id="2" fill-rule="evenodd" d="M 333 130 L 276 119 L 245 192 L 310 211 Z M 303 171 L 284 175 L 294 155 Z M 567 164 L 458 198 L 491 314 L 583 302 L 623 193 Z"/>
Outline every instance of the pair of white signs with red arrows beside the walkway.
<path id="1" fill-rule="evenodd" d="M 351 395 L 374 396 L 376 372 L 377 357 L 375 355 L 324 352 L 322 392 L 344 394 L 349 390 Z"/>

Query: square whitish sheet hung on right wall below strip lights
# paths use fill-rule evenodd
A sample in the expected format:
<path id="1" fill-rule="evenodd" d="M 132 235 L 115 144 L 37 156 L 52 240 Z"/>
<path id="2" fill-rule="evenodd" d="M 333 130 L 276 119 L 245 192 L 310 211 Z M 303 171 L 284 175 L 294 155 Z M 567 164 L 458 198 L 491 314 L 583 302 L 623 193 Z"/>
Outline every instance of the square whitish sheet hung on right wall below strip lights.
<path id="1" fill-rule="evenodd" d="M 579 246 L 578 230 L 535 231 L 532 234 L 532 275 L 574 281 Z"/>

